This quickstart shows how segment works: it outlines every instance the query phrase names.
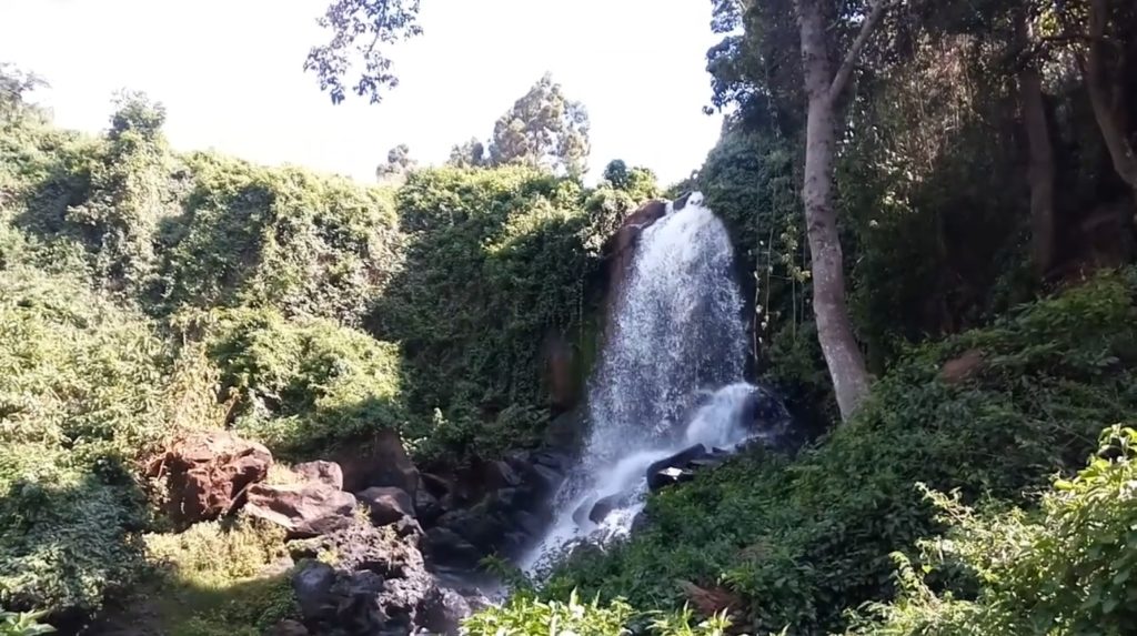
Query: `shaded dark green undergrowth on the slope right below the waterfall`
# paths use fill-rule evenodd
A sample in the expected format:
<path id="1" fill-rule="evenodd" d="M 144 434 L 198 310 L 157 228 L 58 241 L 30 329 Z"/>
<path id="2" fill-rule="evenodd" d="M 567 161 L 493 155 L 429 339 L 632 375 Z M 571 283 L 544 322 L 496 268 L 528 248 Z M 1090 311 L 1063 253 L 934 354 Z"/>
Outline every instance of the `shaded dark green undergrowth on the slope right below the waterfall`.
<path id="1" fill-rule="evenodd" d="M 844 630 L 846 610 L 895 596 L 891 554 L 944 529 L 918 484 L 1030 507 L 1055 471 L 1084 463 L 1104 426 L 1131 419 L 1135 288 L 1132 271 L 1105 274 L 911 352 L 829 438 L 794 459 L 755 451 L 663 492 L 647 529 L 576 553 L 542 594 L 674 609 L 694 581 L 736 595 L 750 634 Z M 971 377 L 938 379 L 969 350 L 984 355 Z"/>

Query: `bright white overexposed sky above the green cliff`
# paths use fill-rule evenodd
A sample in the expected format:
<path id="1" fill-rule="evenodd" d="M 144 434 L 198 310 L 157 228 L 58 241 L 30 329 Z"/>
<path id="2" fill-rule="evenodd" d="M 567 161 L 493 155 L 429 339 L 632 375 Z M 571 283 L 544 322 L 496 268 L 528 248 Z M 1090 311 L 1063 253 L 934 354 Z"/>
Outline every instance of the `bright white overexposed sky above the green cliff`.
<path id="1" fill-rule="evenodd" d="M 33 101 L 98 133 L 118 89 L 166 106 L 180 150 L 215 149 L 374 181 L 388 149 L 425 164 L 489 137 L 546 72 L 584 103 L 591 175 L 612 159 L 664 184 L 702 165 L 707 0 L 422 0 L 424 35 L 392 51 L 400 83 L 380 104 L 332 106 L 301 66 L 326 39 L 327 0 L 0 0 L 0 61 L 43 76 Z M 352 95 L 354 98 L 354 95 Z"/>

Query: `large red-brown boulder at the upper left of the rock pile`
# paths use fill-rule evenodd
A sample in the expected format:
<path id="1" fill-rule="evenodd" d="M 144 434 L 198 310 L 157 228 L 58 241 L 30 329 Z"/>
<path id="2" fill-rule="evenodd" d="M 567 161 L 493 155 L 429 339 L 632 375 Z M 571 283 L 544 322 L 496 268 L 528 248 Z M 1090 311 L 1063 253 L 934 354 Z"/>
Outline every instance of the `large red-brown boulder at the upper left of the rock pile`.
<path id="1" fill-rule="evenodd" d="M 268 475 L 273 455 L 263 445 L 225 430 L 175 440 L 157 465 L 168 485 L 175 522 L 216 519 L 240 508 L 246 489 Z"/>

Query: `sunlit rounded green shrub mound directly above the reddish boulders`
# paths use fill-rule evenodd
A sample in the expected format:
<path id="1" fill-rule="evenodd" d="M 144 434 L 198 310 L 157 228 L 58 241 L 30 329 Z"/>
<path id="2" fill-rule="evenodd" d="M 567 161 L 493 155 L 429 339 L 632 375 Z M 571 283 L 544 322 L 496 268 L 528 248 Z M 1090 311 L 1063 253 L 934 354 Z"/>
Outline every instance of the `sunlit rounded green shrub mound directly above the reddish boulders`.
<path id="1" fill-rule="evenodd" d="M 284 457 L 312 457 L 379 428 L 408 429 L 397 346 L 326 319 L 239 309 L 186 319 L 202 330 L 233 427 Z"/>

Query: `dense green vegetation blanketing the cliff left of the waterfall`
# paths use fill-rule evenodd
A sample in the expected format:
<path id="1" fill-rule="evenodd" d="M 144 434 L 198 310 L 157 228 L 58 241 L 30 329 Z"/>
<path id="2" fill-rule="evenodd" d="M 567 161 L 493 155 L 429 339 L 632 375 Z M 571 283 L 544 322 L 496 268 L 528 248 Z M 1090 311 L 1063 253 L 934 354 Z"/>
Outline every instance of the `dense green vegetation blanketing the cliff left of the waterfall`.
<path id="1" fill-rule="evenodd" d="M 595 357 L 603 242 L 655 191 L 638 168 L 588 190 L 504 167 L 396 193 L 175 153 L 164 117 L 123 94 L 94 139 L 5 111 L 5 608 L 82 620 L 171 552 L 141 541 L 164 521 L 139 467 L 186 429 L 299 460 L 393 428 L 451 467 L 536 443 Z"/>

